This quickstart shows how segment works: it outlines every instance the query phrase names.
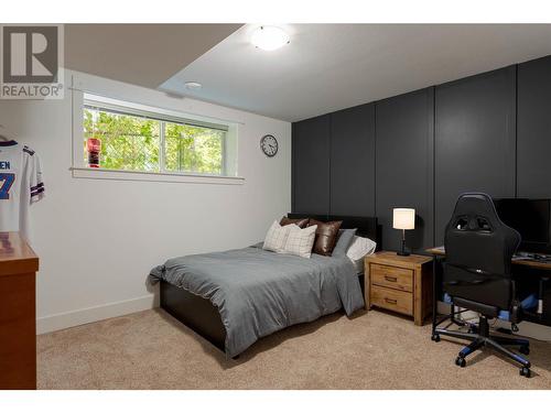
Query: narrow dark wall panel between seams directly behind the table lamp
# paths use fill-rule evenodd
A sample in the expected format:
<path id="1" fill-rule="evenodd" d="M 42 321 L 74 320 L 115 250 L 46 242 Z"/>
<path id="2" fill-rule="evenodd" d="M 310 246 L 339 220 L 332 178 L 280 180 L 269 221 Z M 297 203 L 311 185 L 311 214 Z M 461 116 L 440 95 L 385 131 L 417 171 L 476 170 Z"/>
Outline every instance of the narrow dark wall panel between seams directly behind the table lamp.
<path id="1" fill-rule="evenodd" d="M 396 207 L 415 208 L 417 229 L 406 231 L 410 248 L 433 243 L 433 88 L 377 102 L 375 199 L 385 249 L 401 247 L 401 232 L 392 228 Z"/>

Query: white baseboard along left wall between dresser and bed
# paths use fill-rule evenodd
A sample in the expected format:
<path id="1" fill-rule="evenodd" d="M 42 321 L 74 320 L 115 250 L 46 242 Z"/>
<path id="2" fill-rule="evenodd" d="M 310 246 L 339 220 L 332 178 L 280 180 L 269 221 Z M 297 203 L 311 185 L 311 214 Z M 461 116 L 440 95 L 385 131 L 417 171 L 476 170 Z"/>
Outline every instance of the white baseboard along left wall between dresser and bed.
<path id="1" fill-rule="evenodd" d="M 99 322 L 106 318 L 119 317 L 158 306 L 158 295 L 150 294 L 138 298 L 119 301 L 117 303 L 53 314 L 36 319 L 36 334 L 56 332 L 58 329 Z"/>

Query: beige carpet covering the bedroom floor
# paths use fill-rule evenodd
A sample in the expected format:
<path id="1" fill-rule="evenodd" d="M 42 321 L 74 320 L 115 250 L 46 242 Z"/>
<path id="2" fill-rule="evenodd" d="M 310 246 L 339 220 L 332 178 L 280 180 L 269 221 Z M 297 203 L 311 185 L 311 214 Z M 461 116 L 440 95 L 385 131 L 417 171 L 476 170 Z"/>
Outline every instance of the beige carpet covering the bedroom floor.
<path id="1" fill-rule="evenodd" d="M 551 344 L 533 340 L 533 377 L 485 350 L 461 369 L 461 346 L 430 326 L 372 311 L 263 338 L 238 360 L 161 309 L 39 336 L 40 389 L 551 389 Z"/>

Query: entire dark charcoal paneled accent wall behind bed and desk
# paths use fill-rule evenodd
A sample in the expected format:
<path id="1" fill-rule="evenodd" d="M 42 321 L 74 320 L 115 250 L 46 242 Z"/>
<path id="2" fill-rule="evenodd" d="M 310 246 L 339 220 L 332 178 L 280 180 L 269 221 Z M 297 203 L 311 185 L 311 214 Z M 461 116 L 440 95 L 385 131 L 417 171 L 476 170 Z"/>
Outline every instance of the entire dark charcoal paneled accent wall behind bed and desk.
<path id="1" fill-rule="evenodd" d="M 548 56 L 295 122 L 293 211 L 375 215 L 398 250 L 392 208 L 413 207 L 408 244 L 442 244 L 463 192 L 551 197 L 550 108 Z"/>

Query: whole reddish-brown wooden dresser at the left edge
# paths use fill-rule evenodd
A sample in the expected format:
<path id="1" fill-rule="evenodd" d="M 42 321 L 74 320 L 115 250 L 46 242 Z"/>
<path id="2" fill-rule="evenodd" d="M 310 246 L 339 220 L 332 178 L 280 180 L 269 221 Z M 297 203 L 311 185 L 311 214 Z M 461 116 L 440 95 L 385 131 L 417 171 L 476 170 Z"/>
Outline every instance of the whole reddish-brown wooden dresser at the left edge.
<path id="1" fill-rule="evenodd" d="M 19 232 L 0 232 L 0 390 L 36 389 L 37 270 Z"/>

